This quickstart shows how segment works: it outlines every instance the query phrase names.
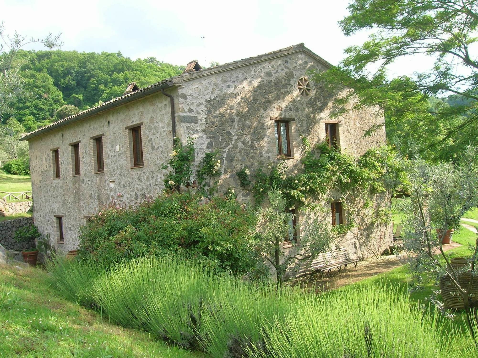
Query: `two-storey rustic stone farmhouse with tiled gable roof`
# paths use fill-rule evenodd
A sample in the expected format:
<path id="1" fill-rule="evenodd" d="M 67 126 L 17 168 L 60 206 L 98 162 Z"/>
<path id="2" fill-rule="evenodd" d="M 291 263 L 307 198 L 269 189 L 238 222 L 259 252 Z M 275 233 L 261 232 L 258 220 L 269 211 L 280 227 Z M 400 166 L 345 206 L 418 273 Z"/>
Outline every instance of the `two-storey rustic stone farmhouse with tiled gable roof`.
<path id="1" fill-rule="evenodd" d="M 309 70 L 330 66 L 304 44 L 205 69 L 192 61 L 180 76 L 142 89 L 132 83 L 121 97 L 24 135 L 34 223 L 55 237 L 57 250 L 75 249 L 80 226 L 118 194 L 134 204 L 163 190 L 160 167 L 174 136 L 185 141 L 196 135 L 198 157 L 218 149 L 219 192 L 235 188 L 239 201 L 248 195 L 237 171 L 277 161 L 293 168 L 301 159 L 302 135 L 312 144 L 328 137 L 354 156 L 384 144 L 384 126 L 363 138 L 370 126 L 384 122 L 376 108 L 330 118 L 333 96 L 308 79 Z M 334 197 L 325 204 L 328 220 L 338 224 L 346 214 L 340 194 Z M 381 204 L 389 205 L 386 199 Z M 306 222 L 304 213 L 295 214 Z M 357 243 L 347 247 L 359 254 Z"/>

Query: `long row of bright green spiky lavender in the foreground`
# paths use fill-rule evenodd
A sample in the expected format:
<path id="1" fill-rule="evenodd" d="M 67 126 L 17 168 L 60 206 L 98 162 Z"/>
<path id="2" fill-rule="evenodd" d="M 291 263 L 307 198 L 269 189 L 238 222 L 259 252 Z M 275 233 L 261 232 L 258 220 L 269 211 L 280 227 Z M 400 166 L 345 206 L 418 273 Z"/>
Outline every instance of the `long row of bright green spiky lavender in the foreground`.
<path id="1" fill-rule="evenodd" d="M 157 257 L 100 275 L 81 261 L 51 268 L 54 286 L 72 297 L 86 293 L 109 319 L 212 357 L 477 356 L 467 331 L 445 325 L 439 313 L 385 284 L 320 296 L 277 292 L 201 269 L 193 260 Z"/>

